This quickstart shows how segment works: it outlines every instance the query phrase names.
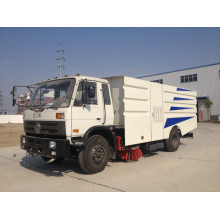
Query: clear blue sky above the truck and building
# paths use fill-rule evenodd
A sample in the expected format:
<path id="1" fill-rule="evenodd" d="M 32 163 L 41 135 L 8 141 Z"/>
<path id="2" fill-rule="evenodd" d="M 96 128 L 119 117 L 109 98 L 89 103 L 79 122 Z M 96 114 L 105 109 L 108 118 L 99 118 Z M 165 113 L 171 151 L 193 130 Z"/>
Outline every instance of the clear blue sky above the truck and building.
<path id="1" fill-rule="evenodd" d="M 10 91 L 62 74 L 146 76 L 220 63 L 220 28 L 0 28 L 0 91 L 15 113 Z M 18 90 L 18 93 L 27 91 Z"/>

